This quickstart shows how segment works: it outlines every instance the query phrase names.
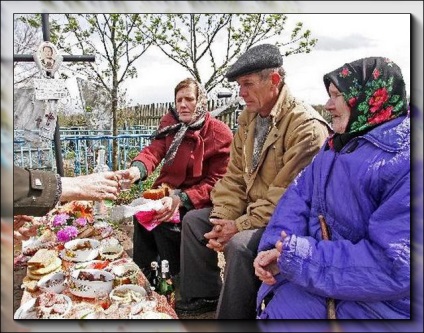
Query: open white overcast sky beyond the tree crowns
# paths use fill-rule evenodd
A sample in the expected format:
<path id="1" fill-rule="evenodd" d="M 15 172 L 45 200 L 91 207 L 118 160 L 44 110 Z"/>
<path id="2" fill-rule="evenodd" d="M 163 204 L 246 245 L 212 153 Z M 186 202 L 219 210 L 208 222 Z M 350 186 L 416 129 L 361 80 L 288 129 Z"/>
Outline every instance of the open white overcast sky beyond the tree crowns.
<path id="1" fill-rule="evenodd" d="M 325 104 L 325 73 L 359 58 L 384 56 L 400 66 L 409 93 L 410 20 L 409 14 L 288 14 L 288 23 L 303 22 L 318 39 L 312 52 L 284 58 L 288 86 L 308 103 Z M 137 68 L 139 77 L 125 86 L 127 96 L 140 104 L 173 101 L 175 85 L 189 74 L 156 48 Z"/>

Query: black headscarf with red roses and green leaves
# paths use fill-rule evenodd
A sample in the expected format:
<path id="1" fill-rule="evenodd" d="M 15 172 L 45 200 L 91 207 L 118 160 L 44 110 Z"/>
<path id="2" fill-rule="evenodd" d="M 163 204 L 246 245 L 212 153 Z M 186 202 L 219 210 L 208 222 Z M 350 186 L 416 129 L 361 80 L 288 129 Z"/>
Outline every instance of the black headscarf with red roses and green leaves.
<path id="1" fill-rule="evenodd" d="M 352 137 L 407 113 L 405 81 L 398 65 L 387 58 L 363 58 L 324 75 L 328 89 L 333 83 L 349 105 L 346 132 L 334 134 L 330 146 L 343 146 Z"/>

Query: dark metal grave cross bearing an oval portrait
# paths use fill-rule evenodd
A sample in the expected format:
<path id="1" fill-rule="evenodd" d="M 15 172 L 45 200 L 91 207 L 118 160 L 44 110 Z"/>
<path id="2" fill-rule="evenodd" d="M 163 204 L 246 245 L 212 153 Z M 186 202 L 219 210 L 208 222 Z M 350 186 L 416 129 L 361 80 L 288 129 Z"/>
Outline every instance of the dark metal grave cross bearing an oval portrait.
<path id="1" fill-rule="evenodd" d="M 50 42 L 50 29 L 49 29 L 49 14 L 41 14 L 41 25 L 43 30 L 43 40 L 44 42 Z M 61 56 L 62 61 L 70 61 L 70 62 L 80 62 L 80 61 L 88 61 L 94 62 L 94 55 L 63 55 Z M 34 56 L 32 54 L 14 54 L 13 61 L 15 62 L 33 62 Z M 38 65 L 38 63 L 37 63 Z M 51 68 L 54 69 L 54 65 L 52 63 L 40 63 L 43 69 L 46 69 L 47 76 L 51 75 Z M 60 64 L 59 64 L 60 65 Z M 56 69 L 58 66 L 56 66 Z M 48 117 L 46 115 L 45 117 Z M 42 119 L 37 119 L 36 121 L 41 122 Z M 50 121 L 51 119 L 47 119 Z M 56 128 L 54 132 L 54 150 L 56 155 L 56 168 L 59 175 L 64 176 L 63 170 L 63 160 L 62 160 L 62 150 L 60 147 L 60 132 L 59 132 L 59 118 L 56 119 Z"/>

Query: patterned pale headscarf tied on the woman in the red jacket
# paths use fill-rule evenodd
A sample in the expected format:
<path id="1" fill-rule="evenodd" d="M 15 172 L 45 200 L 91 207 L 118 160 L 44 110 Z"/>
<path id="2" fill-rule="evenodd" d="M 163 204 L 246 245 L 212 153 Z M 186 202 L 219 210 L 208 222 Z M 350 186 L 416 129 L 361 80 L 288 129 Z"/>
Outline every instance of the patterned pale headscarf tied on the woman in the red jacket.
<path id="1" fill-rule="evenodd" d="M 188 80 L 189 82 L 192 82 L 197 87 L 197 103 L 193 112 L 192 122 L 190 124 L 186 124 L 180 121 L 177 111 L 172 106 L 170 106 L 169 112 L 172 114 L 175 120 L 178 121 L 178 123 L 164 127 L 154 132 L 151 136 L 151 138 L 153 139 L 159 139 L 159 138 L 164 138 L 167 135 L 176 133 L 174 140 L 172 141 L 171 146 L 169 147 L 164 157 L 164 165 L 171 164 L 172 161 L 174 160 L 175 155 L 178 151 L 178 147 L 180 146 L 187 130 L 189 129 L 198 130 L 202 128 L 203 124 L 205 123 L 205 115 L 208 111 L 206 90 L 196 80 L 193 80 L 193 79 L 186 79 L 186 80 Z M 175 92 L 175 95 L 177 95 L 177 91 Z"/>

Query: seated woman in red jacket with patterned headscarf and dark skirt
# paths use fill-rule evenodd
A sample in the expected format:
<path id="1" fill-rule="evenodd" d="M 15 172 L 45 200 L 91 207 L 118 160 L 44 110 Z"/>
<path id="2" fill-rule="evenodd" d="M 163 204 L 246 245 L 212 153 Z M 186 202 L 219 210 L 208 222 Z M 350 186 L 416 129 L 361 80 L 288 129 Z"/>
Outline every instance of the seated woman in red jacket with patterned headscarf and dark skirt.
<path id="1" fill-rule="evenodd" d="M 144 271 L 152 261 L 166 259 L 172 276 L 180 270 L 182 223 L 167 222 L 177 210 L 182 221 L 188 210 L 212 205 L 210 191 L 227 169 L 233 138 L 230 128 L 207 112 L 206 92 L 194 79 L 175 87 L 175 105 L 126 170 L 131 182 L 144 180 L 163 161 L 152 188 L 166 184 L 173 190 L 161 199 L 155 218 L 162 223 L 156 228 L 147 231 L 134 221 L 133 259 Z"/>

